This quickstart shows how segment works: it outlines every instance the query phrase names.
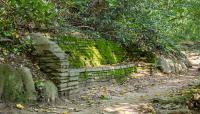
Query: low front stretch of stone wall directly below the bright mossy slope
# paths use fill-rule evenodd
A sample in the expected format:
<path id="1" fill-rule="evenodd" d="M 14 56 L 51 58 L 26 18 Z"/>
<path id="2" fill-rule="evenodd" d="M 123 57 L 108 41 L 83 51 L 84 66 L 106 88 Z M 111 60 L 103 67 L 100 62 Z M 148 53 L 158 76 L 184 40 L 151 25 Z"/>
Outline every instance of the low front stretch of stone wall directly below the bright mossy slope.
<path id="1" fill-rule="evenodd" d="M 84 88 L 95 82 L 107 82 L 112 79 L 122 80 L 134 71 L 134 64 L 103 66 L 95 68 L 69 69 L 69 74 L 74 80 L 68 83 L 71 87 Z M 76 78 L 75 78 L 76 77 Z M 75 91 L 70 91 L 74 94 Z M 70 95 L 71 96 L 71 95 Z"/>

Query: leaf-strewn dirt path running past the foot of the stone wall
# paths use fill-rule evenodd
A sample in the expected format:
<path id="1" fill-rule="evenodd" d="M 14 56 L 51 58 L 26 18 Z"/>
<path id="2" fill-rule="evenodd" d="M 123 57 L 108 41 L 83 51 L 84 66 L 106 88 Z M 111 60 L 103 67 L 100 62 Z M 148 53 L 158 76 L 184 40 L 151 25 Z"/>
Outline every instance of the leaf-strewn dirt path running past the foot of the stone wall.
<path id="1" fill-rule="evenodd" d="M 2 114 L 153 113 L 152 99 L 168 96 L 180 89 L 198 84 L 200 55 L 195 52 L 187 52 L 187 56 L 193 66 L 185 74 L 169 75 L 156 72 L 150 76 L 148 69 L 142 69 L 133 74 L 132 78 L 123 85 L 110 82 L 82 90 L 79 100 L 66 100 L 66 104 L 55 106 L 25 106 L 24 110 L 17 110 L 13 105 L 5 108 Z M 105 96 L 99 98 L 102 92 Z"/>

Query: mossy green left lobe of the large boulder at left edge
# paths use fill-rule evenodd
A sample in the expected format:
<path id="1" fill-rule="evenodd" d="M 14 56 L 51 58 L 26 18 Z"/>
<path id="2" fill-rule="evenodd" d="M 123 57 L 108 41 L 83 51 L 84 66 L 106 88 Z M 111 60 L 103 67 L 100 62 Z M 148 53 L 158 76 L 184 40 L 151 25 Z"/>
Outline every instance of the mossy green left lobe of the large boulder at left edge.
<path id="1" fill-rule="evenodd" d="M 0 98 L 4 101 L 25 101 L 20 73 L 10 65 L 0 65 Z"/>

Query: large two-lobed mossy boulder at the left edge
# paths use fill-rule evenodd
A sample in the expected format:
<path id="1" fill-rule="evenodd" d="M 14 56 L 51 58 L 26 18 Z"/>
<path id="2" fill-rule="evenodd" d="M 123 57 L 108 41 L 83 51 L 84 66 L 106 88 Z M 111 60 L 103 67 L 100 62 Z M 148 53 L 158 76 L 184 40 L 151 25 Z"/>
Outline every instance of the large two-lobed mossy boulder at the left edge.
<path id="1" fill-rule="evenodd" d="M 15 69 L 10 65 L 0 64 L 0 100 L 36 100 L 32 74 L 28 68 Z"/>

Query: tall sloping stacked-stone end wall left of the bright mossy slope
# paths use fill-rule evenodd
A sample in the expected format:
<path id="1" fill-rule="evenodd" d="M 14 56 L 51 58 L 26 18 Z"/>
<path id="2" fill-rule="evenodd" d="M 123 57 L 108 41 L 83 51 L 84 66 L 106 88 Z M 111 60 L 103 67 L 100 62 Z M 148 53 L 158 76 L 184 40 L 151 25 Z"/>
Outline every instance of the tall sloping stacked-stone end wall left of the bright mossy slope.
<path id="1" fill-rule="evenodd" d="M 40 69 L 48 75 L 57 86 L 61 96 L 70 97 L 78 89 L 78 77 L 69 72 L 67 55 L 61 48 L 39 33 L 31 34 L 34 47 L 34 59 Z"/>

